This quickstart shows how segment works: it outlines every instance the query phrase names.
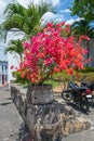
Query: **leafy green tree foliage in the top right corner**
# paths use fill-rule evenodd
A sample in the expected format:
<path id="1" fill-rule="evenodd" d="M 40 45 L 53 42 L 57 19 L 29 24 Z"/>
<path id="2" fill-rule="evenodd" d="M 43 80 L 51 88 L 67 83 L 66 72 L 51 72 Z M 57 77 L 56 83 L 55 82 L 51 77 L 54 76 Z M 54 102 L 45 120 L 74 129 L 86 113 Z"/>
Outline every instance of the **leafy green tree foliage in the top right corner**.
<path id="1" fill-rule="evenodd" d="M 71 15 L 94 22 L 94 0 L 73 0 L 70 11 Z"/>

